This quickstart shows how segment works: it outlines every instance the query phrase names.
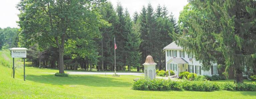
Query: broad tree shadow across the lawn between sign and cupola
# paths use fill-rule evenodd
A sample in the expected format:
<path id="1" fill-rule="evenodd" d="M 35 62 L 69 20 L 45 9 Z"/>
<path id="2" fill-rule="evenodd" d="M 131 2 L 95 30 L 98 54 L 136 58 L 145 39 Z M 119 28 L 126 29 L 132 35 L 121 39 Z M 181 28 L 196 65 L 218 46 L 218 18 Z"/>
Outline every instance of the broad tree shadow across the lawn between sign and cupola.
<path id="1" fill-rule="evenodd" d="M 68 77 L 54 76 L 53 74 L 31 75 L 28 74 L 26 80 L 35 81 L 38 83 L 46 83 L 52 85 L 86 85 L 98 87 L 129 87 L 131 82 L 125 82 L 111 76 L 97 75 L 70 75 Z"/>

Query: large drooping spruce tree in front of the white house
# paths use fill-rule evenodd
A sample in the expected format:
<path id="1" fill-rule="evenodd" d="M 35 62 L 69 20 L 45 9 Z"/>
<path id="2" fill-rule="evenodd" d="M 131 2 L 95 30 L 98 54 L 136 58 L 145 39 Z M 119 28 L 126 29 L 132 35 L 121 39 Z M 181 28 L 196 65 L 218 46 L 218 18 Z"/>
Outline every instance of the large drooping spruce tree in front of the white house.
<path id="1" fill-rule="evenodd" d="M 220 57 L 225 60 L 224 74 L 233 68 L 234 82 L 242 83 L 245 66 L 256 56 L 256 1 L 189 0 L 181 12 L 183 34 L 172 34 L 196 60 L 209 70 Z M 183 13 L 183 14 L 182 14 Z M 220 55 L 218 55 L 220 53 Z"/>

